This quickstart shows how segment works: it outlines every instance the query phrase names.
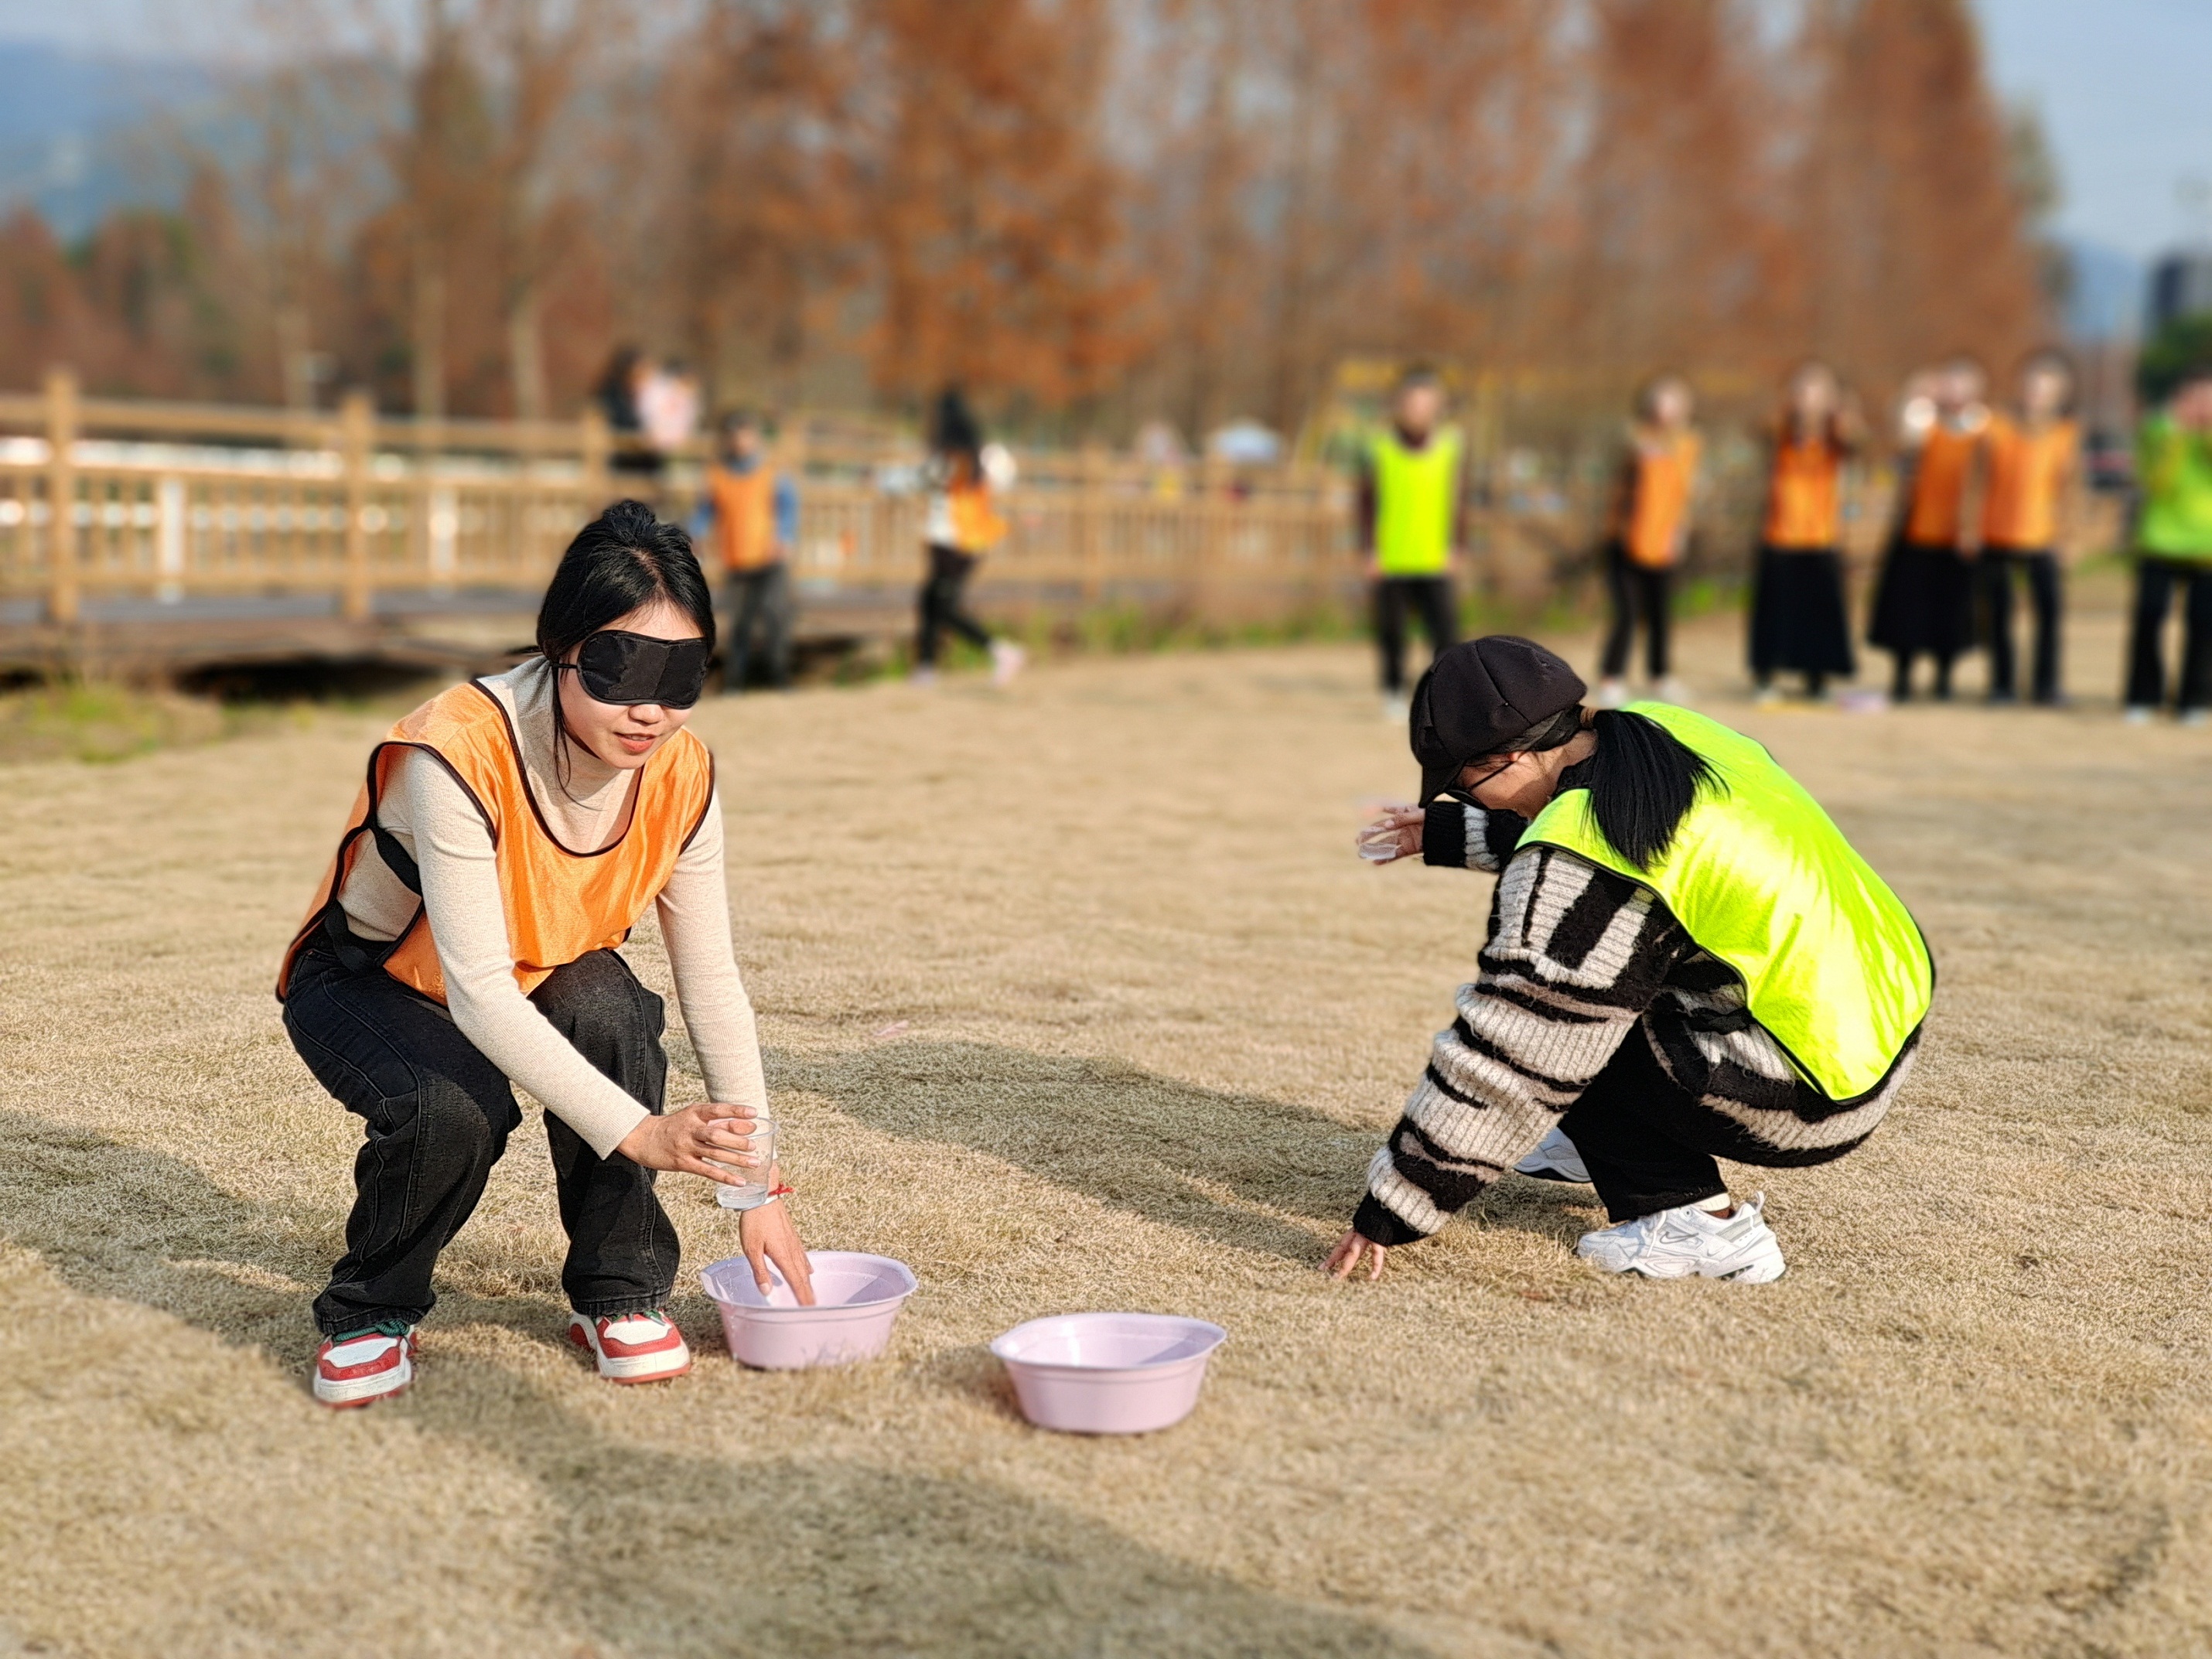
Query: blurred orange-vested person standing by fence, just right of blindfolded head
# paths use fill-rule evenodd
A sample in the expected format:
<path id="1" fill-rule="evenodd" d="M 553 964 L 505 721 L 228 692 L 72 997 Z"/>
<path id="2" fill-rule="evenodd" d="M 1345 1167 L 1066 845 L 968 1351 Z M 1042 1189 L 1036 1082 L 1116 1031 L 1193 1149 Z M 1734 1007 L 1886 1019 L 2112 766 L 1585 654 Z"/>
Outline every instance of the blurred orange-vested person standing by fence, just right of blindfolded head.
<path id="1" fill-rule="evenodd" d="M 721 688 L 745 690 L 754 650 L 768 684 L 792 684 L 792 573 L 799 542 L 799 487 L 768 456 L 759 416 L 732 409 L 721 422 L 721 447 L 706 473 L 703 531 L 721 557 L 730 593 L 730 655 Z"/>

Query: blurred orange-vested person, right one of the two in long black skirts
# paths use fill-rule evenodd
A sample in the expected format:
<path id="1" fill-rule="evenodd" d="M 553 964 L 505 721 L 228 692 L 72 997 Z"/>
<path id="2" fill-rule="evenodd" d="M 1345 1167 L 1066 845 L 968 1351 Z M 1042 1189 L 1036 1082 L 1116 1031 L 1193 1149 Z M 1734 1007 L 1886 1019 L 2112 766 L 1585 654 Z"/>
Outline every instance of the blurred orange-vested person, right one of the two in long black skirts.
<path id="1" fill-rule="evenodd" d="M 1896 657 L 1891 701 L 1913 695 L 1913 661 L 1936 659 L 1936 697 L 1951 697 L 1951 668 L 1973 648 L 1973 551 L 1980 542 L 1969 495 L 1978 487 L 1989 436 L 1989 380 L 1971 356 L 1953 356 L 1929 376 L 1924 429 L 1907 407 L 1918 445 L 1898 482 L 1898 524 L 1874 586 L 1867 644 Z"/>

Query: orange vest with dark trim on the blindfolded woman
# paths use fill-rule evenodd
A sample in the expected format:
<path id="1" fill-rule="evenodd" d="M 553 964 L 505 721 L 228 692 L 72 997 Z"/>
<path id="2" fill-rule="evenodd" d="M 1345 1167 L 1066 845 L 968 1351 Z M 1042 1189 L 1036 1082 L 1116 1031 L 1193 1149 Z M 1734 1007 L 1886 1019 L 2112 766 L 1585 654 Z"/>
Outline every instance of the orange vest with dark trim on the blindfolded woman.
<path id="1" fill-rule="evenodd" d="M 575 852 L 555 841 L 531 794 L 507 706 L 478 681 L 438 692 L 369 752 L 369 776 L 354 799 L 338 854 L 279 969 L 279 1000 L 299 953 L 321 933 L 341 949 L 341 960 L 352 964 L 356 951 L 369 964 L 380 958 L 394 980 L 445 1002 L 445 973 L 420 907 L 407 931 L 389 945 L 356 940 L 338 907 L 363 843 L 376 836 L 376 803 L 392 781 L 392 768 L 409 750 L 429 754 L 451 772 L 484 814 L 507 909 L 507 947 L 524 995 L 553 969 L 591 951 L 613 949 L 630 936 L 646 905 L 668 885 L 677 856 L 699 832 L 714 799 L 714 759 L 697 737 L 677 732 L 653 752 L 630 785 L 630 825 L 622 838 L 597 852 Z M 398 841 L 378 838 L 378 856 L 420 894 L 414 860 Z"/>

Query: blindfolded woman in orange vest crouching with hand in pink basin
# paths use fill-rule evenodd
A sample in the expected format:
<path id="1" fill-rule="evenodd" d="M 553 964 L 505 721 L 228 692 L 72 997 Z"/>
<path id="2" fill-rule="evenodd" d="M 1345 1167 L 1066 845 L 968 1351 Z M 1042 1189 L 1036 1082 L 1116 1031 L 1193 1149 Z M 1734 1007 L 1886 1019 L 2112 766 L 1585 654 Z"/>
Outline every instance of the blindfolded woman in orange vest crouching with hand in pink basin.
<path id="1" fill-rule="evenodd" d="M 515 1084 L 546 1106 L 568 1340 L 611 1383 L 690 1369 L 653 1179 L 748 1183 L 732 1166 L 759 1164 L 745 1130 L 768 1102 L 714 761 L 684 730 L 712 650 L 690 538 L 617 502 L 562 555 L 538 655 L 431 697 L 369 752 L 276 982 L 292 1046 L 367 1128 L 345 1254 L 314 1303 L 323 1405 L 414 1380 L 431 1270 L 522 1121 Z M 710 1095 L 675 1113 L 661 1000 L 617 953 L 648 905 Z M 814 1301 L 783 1203 L 741 1212 L 739 1237 L 763 1290 L 765 1259 Z"/>

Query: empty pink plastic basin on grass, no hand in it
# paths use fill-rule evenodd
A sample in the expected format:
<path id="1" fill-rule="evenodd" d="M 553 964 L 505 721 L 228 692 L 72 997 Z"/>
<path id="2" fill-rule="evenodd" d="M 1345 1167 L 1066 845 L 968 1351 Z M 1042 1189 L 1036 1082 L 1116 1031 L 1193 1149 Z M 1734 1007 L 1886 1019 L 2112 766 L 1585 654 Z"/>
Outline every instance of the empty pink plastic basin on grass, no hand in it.
<path id="1" fill-rule="evenodd" d="M 1175 1314 L 1055 1314 L 991 1343 L 1022 1416 L 1068 1433 L 1148 1433 L 1190 1416 L 1228 1332 Z"/>

